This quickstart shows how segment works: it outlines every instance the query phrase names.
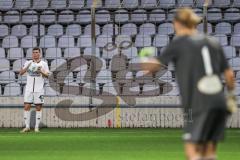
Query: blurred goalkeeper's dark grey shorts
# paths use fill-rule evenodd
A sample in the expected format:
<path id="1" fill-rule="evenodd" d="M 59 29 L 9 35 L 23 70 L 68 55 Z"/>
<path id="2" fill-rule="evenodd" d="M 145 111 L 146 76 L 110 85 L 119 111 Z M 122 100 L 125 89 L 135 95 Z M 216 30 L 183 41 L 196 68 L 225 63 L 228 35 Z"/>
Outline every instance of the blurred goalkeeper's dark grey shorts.
<path id="1" fill-rule="evenodd" d="M 218 142 L 224 138 L 227 112 L 223 108 L 212 108 L 185 122 L 183 139 L 191 143 Z"/>

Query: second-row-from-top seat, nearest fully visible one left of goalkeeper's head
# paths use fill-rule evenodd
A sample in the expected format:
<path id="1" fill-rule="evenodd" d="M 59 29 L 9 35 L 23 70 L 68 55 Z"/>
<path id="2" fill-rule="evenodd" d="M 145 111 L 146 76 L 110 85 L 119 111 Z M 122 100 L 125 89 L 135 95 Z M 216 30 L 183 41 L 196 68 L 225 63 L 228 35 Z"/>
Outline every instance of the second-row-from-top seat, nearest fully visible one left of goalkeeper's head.
<path id="1" fill-rule="evenodd" d="M 149 20 L 153 23 L 165 21 L 166 15 L 164 10 L 161 10 L 161 9 L 152 10 L 149 15 Z"/>

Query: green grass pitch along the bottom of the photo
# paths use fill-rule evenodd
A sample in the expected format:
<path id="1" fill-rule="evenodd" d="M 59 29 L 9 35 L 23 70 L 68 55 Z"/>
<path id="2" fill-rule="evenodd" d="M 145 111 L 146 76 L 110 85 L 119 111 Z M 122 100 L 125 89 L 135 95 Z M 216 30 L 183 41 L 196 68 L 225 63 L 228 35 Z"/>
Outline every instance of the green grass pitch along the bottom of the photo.
<path id="1" fill-rule="evenodd" d="M 1 160 L 184 160 L 180 129 L 0 129 Z M 240 130 L 227 130 L 219 160 L 240 159 Z"/>

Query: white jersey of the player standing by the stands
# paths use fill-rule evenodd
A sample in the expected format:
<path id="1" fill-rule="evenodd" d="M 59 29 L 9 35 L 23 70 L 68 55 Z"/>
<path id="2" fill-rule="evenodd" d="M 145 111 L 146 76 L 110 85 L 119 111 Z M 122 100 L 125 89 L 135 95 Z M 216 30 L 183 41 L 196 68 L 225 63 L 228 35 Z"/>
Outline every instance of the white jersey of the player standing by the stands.
<path id="1" fill-rule="evenodd" d="M 49 73 L 48 64 L 44 61 L 40 61 L 38 63 L 33 62 L 33 60 L 26 61 L 23 68 L 26 68 L 29 64 L 27 70 L 27 85 L 25 88 L 25 92 L 39 92 L 44 93 L 44 78 L 42 74 L 36 72 L 38 67 L 41 67 L 44 72 Z"/>

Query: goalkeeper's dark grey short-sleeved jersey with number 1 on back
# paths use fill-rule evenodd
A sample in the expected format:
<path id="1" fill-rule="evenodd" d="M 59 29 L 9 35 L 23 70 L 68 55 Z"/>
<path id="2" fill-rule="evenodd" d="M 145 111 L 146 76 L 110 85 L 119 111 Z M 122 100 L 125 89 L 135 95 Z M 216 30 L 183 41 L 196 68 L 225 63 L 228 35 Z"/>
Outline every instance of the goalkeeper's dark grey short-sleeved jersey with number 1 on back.
<path id="1" fill-rule="evenodd" d="M 223 92 L 217 95 L 203 95 L 197 89 L 198 81 L 205 75 L 201 50 L 208 47 L 213 73 L 219 77 L 228 68 L 223 49 L 216 39 L 205 35 L 180 36 L 166 47 L 158 57 L 160 62 L 175 64 L 176 78 L 179 84 L 182 105 L 192 108 L 194 113 L 210 107 L 226 107 Z"/>

